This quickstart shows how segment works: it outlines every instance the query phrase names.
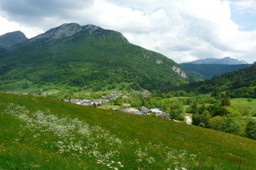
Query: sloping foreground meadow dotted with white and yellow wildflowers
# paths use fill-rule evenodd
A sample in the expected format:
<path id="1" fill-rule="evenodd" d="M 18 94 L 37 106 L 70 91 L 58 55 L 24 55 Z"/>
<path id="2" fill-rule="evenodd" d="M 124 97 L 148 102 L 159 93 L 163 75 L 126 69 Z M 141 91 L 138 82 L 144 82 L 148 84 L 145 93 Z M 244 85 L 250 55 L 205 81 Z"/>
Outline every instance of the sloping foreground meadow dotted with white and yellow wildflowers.
<path id="1" fill-rule="evenodd" d="M 12 104 L 11 104 L 12 103 Z M 59 100 L 0 93 L 0 169 L 254 170 L 256 141 Z"/>

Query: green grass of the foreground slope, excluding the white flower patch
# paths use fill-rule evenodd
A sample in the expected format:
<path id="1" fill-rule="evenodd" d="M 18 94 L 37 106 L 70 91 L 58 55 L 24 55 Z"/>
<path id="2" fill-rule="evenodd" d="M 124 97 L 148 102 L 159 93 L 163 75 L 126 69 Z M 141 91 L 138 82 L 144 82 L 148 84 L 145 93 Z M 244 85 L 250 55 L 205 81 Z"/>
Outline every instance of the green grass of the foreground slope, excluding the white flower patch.
<path id="1" fill-rule="evenodd" d="M 202 156 L 202 169 L 210 169 L 211 164 L 214 164 L 216 168 L 222 161 L 222 169 L 238 169 L 240 158 L 243 161 L 243 170 L 253 170 L 256 167 L 256 141 L 248 138 L 158 118 L 105 111 L 47 98 L 0 93 L 0 111 L 3 111 L 10 102 L 25 105 L 29 111 L 50 109 L 56 115 L 78 118 L 90 125 L 99 125 L 124 141 L 138 139 L 138 147 L 141 148 L 148 141 L 152 141 L 152 144 L 154 141 L 157 143 L 161 141 L 163 145 L 169 148 L 186 150 L 189 154 L 196 154 L 196 162 Z M 15 141 L 19 131 L 19 122 L 6 115 L 0 114 L 0 117 L 0 165 L 2 164 L 3 167 L 7 169 L 27 167 L 28 169 L 29 166 L 35 167 L 40 164 L 41 169 L 104 169 L 90 159 L 81 163 L 79 160 L 70 158 L 70 155 L 58 155 L 40 146 L 33 138 L 24 136 L 23 142 Z M 126 168 L 129 167 L 129 169 L 138 166 L 138 163 L 131 162 L 132 157 L 129 157 L 132 155 L 129 152 L 133 150 L 134 148 L 128 148 L 127 153 L 120 154 L 121 162 L 124 162 Z M 212 163 L 207 163 L 209 157 Z M 161 158 L 159 159 L 161 162 Z M 157 163 L 154 166 L 165 169 Z M 184 166 L 186 165 L 184 164 Z"/>

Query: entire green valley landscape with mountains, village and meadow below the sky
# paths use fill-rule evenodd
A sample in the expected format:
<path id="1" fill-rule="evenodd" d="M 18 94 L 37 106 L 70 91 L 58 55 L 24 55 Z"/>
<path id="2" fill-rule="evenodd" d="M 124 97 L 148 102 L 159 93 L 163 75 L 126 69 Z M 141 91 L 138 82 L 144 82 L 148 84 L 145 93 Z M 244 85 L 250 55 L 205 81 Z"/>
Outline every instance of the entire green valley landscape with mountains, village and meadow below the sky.
<path id="1" fill-rule="evenodd" d="M 256 62 L 179 65 L 94 25 L 16 33 L 0 46 L 0 169 L 255 169 Z"/>

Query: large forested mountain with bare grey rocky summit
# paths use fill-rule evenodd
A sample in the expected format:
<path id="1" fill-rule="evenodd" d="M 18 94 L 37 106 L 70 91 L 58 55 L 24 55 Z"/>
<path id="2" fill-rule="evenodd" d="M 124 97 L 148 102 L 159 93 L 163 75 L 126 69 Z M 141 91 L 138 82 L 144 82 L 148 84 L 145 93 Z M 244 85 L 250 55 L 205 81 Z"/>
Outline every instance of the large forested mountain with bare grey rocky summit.
<path id="1" fill-rule="evenodd" d="M 133 45 L 119 32 L 94 25 L 63 24 L 0 53 L 0 81 L 27 78 L 101 90 L 128 82 L 135 90 L 167 92 L 194 80 L 160 53 Z"/>

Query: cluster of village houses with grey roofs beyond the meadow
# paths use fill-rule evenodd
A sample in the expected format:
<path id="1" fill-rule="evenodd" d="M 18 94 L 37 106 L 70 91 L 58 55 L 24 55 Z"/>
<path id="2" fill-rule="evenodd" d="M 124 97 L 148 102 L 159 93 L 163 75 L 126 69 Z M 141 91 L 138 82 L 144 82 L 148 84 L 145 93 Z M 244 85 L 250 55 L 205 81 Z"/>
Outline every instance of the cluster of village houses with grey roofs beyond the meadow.
<path id="1" fill-rule="evenodd" d="M 102 96 L 104 99 L 64 99 L 65 102 L 70 102 L 77 105 L 84 105 L 84 106 L 100 106 L 100 105 L 110 105 L 109 99 L 116 99 L 119 97 L 125 98 L 129 97 L 128 95 L 123 95 L 122 93 L 118 92 L 112 92 L 111 95 Z M 134 108 L 126 108 L 126 109 L 120 109 L 112 108 L 114 111 L 121 111 L 129 114 L 135 114 L 135 115 L 147 115 L 147 116 L 153 116 L 157 118 L 164 118 L 164 119 L 170 119 L 168 113 L 162 112 L 161 108 L 152 108 L 148 109 L 145 106 L 141 106 L 140 110 L 134 109 Z"/>

